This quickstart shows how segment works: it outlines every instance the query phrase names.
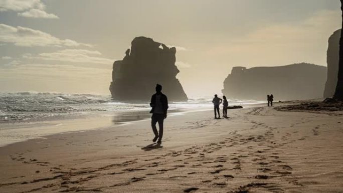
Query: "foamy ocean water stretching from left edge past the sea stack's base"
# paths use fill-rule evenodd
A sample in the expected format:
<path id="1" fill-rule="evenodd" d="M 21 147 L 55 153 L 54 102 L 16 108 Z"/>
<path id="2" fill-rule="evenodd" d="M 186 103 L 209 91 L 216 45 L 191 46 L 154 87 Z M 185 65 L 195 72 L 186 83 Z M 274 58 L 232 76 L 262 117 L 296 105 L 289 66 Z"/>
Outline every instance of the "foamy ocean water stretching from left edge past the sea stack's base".
<path id="1" fill-rule="evenodd" d="M 169 103 L 169 109 L 212 107 L 212 97 Z M 229 105 L 249 105 L 260 101 L 229 100 Z M 108 96 L 63 93 L 0 93 L 0 124 L 77 117 L 94 112 L 148 111 L 146 103 L 115 102 Z"/>

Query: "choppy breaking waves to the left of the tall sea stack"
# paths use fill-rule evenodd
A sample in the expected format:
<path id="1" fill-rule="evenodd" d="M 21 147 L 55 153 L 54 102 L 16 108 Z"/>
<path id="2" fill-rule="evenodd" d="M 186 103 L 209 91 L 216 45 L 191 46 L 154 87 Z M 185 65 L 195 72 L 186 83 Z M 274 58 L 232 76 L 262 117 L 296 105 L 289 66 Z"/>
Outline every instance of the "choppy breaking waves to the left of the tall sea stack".
<path id="1" fill-rule="evenodd" d="M 0 122 L 104 111 L 109 96 L 42 92 L 0 93 Z M 99 108 L 98 108 L 99 106 Z"/>

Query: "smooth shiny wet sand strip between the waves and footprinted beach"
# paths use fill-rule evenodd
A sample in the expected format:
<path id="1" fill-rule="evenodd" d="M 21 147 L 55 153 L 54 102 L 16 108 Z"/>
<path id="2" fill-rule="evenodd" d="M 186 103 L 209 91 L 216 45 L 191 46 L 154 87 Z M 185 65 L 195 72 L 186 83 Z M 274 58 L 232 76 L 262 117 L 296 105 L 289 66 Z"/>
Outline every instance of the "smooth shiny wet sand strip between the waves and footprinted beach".
<path id="1" fill-rule="evenodd" d="M 199 111 L 202 108 L 195 108 Z M 182 113 L 185 109 L 173 109 L 171 115 Z M 65 132 L 84 132 L 87 130 L 108 128 L 127 122 L 148 119 L 151 114 L 148 110 L 97 112 L 83 116 L 59 116 L 52 120 L 23 121 L 18 123 L 0 124 L 0 147 L 12 143 L 41 138 Z"/>

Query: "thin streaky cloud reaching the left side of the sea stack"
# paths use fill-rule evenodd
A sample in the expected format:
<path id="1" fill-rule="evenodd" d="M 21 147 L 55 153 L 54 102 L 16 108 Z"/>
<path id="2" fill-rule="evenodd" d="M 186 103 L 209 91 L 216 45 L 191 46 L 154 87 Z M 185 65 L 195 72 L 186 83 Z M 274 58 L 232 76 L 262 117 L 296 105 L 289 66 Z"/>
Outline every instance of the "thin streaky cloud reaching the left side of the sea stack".
<path id="1" fill-rule="evenodd" d="M 107 64 L 111 65 L 113 59 L 102 58 L 98 51 L 90 51 L 83 49 L 65 49 L 52 53 L 41 53 L 36 56 L 31 54 L 23 55 L 25 59 L 39 59 L 47 61 L 62 61 L 71 63 L 91 63 L 91 64 Z"/>

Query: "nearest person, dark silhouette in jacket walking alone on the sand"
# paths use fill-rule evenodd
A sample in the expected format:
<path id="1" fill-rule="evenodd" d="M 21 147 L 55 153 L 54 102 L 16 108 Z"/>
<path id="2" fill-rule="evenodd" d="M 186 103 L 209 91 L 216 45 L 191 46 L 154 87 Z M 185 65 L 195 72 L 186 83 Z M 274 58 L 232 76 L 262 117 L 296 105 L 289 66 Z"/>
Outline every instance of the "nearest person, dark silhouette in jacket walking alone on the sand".
<path id="1" fill-rule="evenodd" d="M 163 136 L 163 120 L 166 118 L 166 113 L 168 109 L 168 99 L 167 97 L 161 92 L 162 86 L 156 84 L 156 93 L 151 96 L 150 106 L 152 113 L 151 116 L 151 127 L 153 134 L 155 137 L 152 139 L 155 142 L 157 139 L 157 143 L 162 142 Z M 157 132 L 156 123 L 158 123 L 159 131 Z"/>

